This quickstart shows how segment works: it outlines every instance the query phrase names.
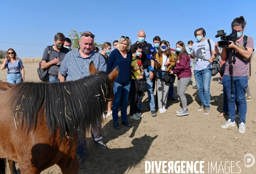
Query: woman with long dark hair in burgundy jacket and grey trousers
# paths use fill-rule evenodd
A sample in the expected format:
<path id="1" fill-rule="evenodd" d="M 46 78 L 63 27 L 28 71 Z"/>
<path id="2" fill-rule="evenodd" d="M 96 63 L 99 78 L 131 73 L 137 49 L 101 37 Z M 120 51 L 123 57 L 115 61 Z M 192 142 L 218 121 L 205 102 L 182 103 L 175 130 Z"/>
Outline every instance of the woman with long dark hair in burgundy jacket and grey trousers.
<path id="1" fill-rule="evenodd" d="M 185 44 L 182 41 L 176 43 L 176 51 L 187 53 Z M 177 116 L 189 115 L 187 109 L 187 100 L 185 96 L 186 88 L 191 81 L 190 57 L 186 54 L 176 52 L 175 55 L 176 68 L 171 71 L 171 74 L 177 73 L 177 94 L 180 97 L 182 108 L 176 111 Z"/>

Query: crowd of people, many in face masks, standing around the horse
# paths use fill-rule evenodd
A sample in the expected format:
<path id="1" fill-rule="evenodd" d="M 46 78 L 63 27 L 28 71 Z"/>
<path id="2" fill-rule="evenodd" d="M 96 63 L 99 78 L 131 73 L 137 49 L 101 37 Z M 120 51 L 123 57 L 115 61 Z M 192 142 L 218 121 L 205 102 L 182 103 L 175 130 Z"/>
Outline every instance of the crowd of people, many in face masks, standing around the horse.
<path id="1" fill-rule="evenodd" d="M 121 112 L 122 124 L 131 127 L 128 123 L 127 106 L 130 102 L 130 118 L 140 120 L 142 116 L 143 91 L 138 89 L 140 79 L 146 81 L 148 93 L 148 107 L 151 116 L 157 116 L 158 112 L 166 112 L 167 100 L 176 100 L 173 96 L 174 82 L 170 81 L 169 75 L 177 76 L 177 95 L 179 96 L 182 108 L 177 110 L 177 116 L 189 114 L 185 91 L 192 80 L 192 89 L 198 90 L 201 105 L 197 111 L 203 111 L 204 115 L 210 113 L 210 83 L 212 75 L 212 62 L 220 57 L 220 63 L 224 66 L 224 75 L 219 81 L 223 84 L 224 102 L 223 112 L 218 116 L 228 114 L 229 119 L 221 125 L 221 128 L 235 126 L 235 118 L 239 117 L 239 133 L 245 132 L 245 118 L 247 112 L 246 100 L 252 100 L 250 88 L 248 87 L 247 70 L 250 71 L 251 55 L 254 48 L 252 37 L 243 35 L 246 22 L 244 17 L 235 18 L 232 22 L 232 29 L 237 32 L 237 38 L 229 41 L 227 48 L 222 48 L 220 53 L 218 42 L 206 39 L 204 28 L 198 28 L 194 32 L 196 42 L 178 41 L 176 51 L 169 50 L 170 45 L 159 36 L 153 38 L 153 46 L 146 42 L 145 31 L 139 31 L 137 41 L 131 45 L 128 36 L 121 36 L 113 44 L 104 42 L 99 48 L 94 46 L 94 35 L 85 31 L 81 34 L 78 49 L 71 50 L 72 42 L 64 34 L 57 33 L 54 37 L 54 45 L 45 48 L 42 57 L 42 69 L 48 69 L 49 83 L 72 81 L 89 76 L 89 64 L 91 61 L 98 71 L 110 73 L 116 66 L 119 67 L 119 75 L 113 82 L 113 98 L 108 101 L 108 108 L 103 117 L 113 117 L 114 129 L 120 129 L 119 110 Z M 245 39 L 246 38 L 246 39 Z M 246 42 L 246 43 L 245 43 Z M 112 50 L 113 45 L 113 50 Z M 154 51 L 151 48 L 154 47 Z M 230 59 L 231 52 L 233 59 Z M 232 53 L 233 53 L 232 52 Z M 8 68 L 7 81 L 19 83 L 24 81 L 24 67 L 13 49 L 7 51 L 5 62 L 1 69 Z M 187 55 L 187 54 L 190 55 Z M 151 55 L 153 59 L 148 59 Z M 230 64 L 230 60 L 232 64 Z M 230 71 L 233 66 L 233 72 Z M 150 70 L 154 67 L 155 70 Z M 157 96 L 154 98 L 154 89 L 157 89 Z M 246 98 L 247 93 L 247 98 Z M 236 113 L 237 110 L 237 113 Z M 78 131 L 79 132 L 79 131 Z M 98 130 L 92 130 L 93 141 L 100 150 L 107 147 L 102 142 L 101 121 L 98 121 Z M 85 141 L 79 140 L 77 155 L 81 164 L 86 153 Z"/>

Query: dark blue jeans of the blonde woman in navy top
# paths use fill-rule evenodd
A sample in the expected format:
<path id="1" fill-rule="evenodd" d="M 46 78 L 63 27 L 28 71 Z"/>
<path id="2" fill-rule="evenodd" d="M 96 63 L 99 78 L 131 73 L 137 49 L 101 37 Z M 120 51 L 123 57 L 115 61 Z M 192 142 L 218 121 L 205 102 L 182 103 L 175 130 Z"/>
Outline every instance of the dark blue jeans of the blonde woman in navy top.
<path id="1" fill-rule="evenodd" d="M 121 118 L 122 121 L 127 121 L 127 101 L 130 91 L 131 81 L 127 83 L 113 83 L 113 91 L 114 91 L 114 99 L 113 99 L 113 106 L 112 106 L 112 117 L 113 122 L 118 123 L 118 109 L 119 103 L 122 96 L 121 101 Z"/>

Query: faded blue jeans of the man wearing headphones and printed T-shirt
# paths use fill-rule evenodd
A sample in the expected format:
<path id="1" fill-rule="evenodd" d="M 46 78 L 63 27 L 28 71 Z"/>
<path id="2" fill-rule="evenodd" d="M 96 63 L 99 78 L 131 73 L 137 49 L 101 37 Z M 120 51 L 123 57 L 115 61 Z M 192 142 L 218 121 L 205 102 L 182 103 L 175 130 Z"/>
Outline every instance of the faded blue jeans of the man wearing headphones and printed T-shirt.
<path id="1" fill-rule="evenodd" d="M 212 69 L 194 70 L 194 74 L 201 105 L 204 104 L 205 108 L 210 108 L 210 84 Z"/>

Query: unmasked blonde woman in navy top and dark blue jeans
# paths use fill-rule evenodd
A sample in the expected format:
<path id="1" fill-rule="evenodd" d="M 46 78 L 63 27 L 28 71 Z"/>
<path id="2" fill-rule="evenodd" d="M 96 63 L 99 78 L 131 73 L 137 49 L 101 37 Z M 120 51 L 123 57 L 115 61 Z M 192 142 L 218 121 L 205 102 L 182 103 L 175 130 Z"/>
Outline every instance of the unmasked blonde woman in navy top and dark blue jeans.
<path id="1" fill-rule="evenodd" d="M 121 36 L 116 46 L 108 58 L 107 72 L 110 73 L 116 66 L 119 67 L 118 77 L 113 83 L 114 100 L 112 107 L 112 117 L 115 129 L 120 129 L 118 125 L 118 108 L 121 100 L 122 124 L 131 127 L 127 121 L 127 101 L 131 85 L 131 43 L 129 37 Z"/>

